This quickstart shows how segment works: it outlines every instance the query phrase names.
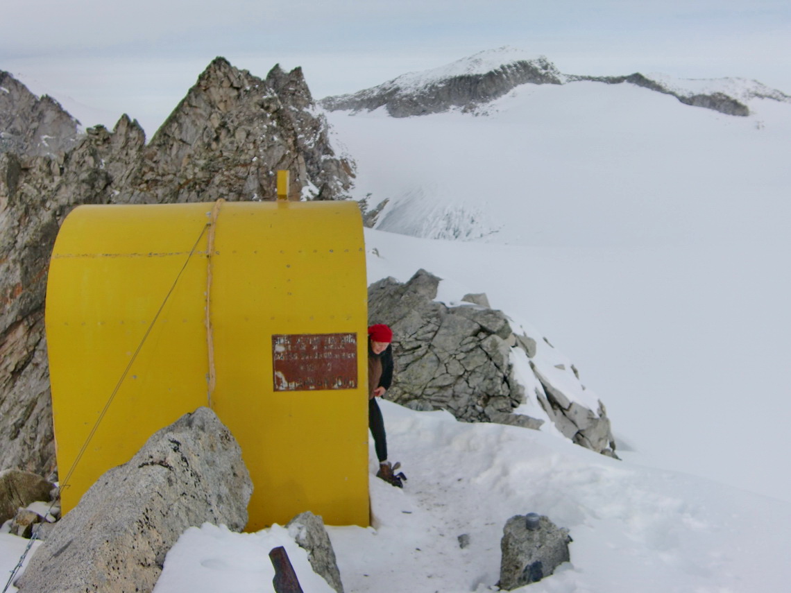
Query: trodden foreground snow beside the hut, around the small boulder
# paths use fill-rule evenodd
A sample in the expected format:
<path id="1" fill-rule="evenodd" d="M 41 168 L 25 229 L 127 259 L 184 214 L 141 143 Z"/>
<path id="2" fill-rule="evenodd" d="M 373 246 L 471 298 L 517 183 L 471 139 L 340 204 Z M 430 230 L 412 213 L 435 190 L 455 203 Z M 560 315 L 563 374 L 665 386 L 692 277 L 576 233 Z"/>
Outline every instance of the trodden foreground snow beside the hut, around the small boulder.
<path id="1" fill-rule="evenodd" d="M 502 527 L 527 512 L 568 527 L 573 543 L 570 563 L 524 593 L 779 593 L 791 579 L 791 504 L 543 432 L 382 404 L 409 479 L 395 489 L 372 466 L 373 527 L 329 527 L 346 593 L 497 591 Z M 282 527 L 207 524 L 168 553 L 154 593 L 272 591 L 267 553 L 281 545 L 305 591 L 331 591 Z"/>

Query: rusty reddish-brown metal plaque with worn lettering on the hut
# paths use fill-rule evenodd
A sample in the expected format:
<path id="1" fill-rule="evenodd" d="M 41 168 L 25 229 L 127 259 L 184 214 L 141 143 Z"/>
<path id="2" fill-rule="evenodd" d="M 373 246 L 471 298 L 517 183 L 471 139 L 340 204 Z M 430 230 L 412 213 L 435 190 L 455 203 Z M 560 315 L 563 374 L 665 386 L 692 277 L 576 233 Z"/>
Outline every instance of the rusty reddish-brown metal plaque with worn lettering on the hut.
<path id="1" fill-rule="evenodd" d="M 272 336 L 274 391 L 357 387 L 357 334 Z"/>

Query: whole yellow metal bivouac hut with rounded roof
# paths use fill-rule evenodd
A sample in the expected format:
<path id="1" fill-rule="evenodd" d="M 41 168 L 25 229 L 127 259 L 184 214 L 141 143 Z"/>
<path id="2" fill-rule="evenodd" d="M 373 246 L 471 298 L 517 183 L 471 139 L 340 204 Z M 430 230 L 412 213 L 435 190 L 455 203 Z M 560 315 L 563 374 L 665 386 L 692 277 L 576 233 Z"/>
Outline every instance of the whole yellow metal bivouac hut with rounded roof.
<path id="1" fill-rule="evenodd" d="M 248 531 L 306 510 L 369 524 L 356 203 L 79 206 L 55 243 L 46 325 L 61 479 L 74 468 L 64 512 L 210 406 L 252 476 Z"/>

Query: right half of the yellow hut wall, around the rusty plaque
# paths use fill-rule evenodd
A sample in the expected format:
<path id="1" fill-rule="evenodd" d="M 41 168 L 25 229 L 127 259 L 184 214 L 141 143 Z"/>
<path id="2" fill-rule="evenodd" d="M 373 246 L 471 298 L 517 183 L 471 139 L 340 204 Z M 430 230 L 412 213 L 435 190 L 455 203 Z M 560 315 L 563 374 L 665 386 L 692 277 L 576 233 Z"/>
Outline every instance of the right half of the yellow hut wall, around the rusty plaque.
<path id="1" fill-rule="evenodd" d="M 264 224 L 261 221 L 265 220 Z M 324 508 L 368 524 L 367 288 L 354 202 L 223 206 L 213 254 L 214 405 L 255 478 L 250 527 Z M 354 333 L 358 388 L 273 391 L 273 334 Z M 244 404 L 240 405 L 240 402 Z"/>

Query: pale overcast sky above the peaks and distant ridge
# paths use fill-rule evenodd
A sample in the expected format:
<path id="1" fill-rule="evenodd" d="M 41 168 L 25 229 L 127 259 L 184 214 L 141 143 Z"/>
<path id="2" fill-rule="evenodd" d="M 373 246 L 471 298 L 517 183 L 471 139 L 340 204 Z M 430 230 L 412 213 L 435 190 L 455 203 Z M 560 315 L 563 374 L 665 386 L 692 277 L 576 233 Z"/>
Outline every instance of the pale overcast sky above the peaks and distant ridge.
<path id="1" fill-rule="evenodd" d="M 82 119 L 127 112 L 149 136 L 217 55 L 259 77 L 303 66 L 316 98 L 504 45 L 566 74 L 746 77 L 791 93 L 789 0 L 0 2 L 0 70 Z"/>

